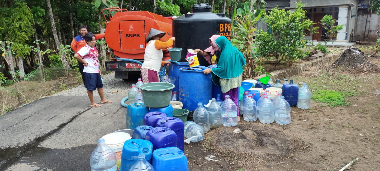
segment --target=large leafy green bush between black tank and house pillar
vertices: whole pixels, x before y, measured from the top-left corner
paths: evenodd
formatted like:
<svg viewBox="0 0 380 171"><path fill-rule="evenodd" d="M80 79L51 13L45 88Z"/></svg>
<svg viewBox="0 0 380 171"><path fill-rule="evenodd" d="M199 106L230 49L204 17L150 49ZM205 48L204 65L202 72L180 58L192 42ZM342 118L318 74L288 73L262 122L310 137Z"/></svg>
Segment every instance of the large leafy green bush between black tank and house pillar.
<svg viewBox="0 0 380 171"><path fill-rule="evenodd" d="M313 22L306 19L305 12L302 10L304 5L297 3L293 12L289 10L280 10L278 6L269 15L264 17L264 22L271 28L272 33L265 30L259 30L256 35L258 42L257 54L261 57L274 58L275 67L281 61L285 61L287 66L291 66L294 61L302 58L302 51L307 41L305 38L305 30L310 30ZM315 32L317 28L313 28Z"/></svg>

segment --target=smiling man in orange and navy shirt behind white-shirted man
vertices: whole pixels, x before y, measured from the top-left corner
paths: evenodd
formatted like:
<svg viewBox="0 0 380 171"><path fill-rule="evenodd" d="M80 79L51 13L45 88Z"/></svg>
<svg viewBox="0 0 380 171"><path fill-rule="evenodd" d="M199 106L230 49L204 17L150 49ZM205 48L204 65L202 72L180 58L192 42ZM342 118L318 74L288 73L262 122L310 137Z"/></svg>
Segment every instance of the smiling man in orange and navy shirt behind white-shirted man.
<svg viewBox="0 0 380 171"><path fill-rule="evenodd" d="M81 26L79 27L79 35L73 38L73 41L71 42L71 49L75 53L77 53L81 48L87 45L86 41L84 40L84 35L87 33L87 27L86 26ZM102 34L95 34L95 39L101 39L104 38L105 33ZM82 75L82 80L84 82L84 77L83 77L83 69L84 65L82 62L78 61L78 67L79 67L79 72ZM86 84L85 84L86 85Z"/></svg>

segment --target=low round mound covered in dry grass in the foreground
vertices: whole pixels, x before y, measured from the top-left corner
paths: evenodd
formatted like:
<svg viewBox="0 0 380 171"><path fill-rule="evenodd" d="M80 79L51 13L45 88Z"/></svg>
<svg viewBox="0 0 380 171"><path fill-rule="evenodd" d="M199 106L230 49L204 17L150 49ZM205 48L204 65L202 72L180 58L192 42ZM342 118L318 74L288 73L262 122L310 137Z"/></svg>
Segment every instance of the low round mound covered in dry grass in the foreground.
<svg viewBox="0 0 380 171"><path fill-rule="evenodd" d="M241 133L232 133L239 128ZM291 157L301 150L304 142L262 124L239 123L234 127L220 127L205 135L203 145L226 162L253 166L262 161Z"/></svg>

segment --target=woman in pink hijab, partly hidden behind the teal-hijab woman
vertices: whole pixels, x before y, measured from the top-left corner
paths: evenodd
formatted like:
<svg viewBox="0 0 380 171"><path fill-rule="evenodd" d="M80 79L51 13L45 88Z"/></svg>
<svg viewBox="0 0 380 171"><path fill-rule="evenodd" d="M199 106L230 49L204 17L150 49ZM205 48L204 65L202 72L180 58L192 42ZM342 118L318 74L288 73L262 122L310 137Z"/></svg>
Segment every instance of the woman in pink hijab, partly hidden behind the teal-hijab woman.
<svg viewBox="0 0 380 171"><path fill-rule="evenodd" d="M215 43L215 40L220 37L220 35L212 35L211 38L209 38L210 47L206 50L200 50L196 49L194 52L198 55L202 55L204 59L206 59L207 62L209 62L210 65L215 65L218 63L220 51L218 51L218 46Z"/></svg>

